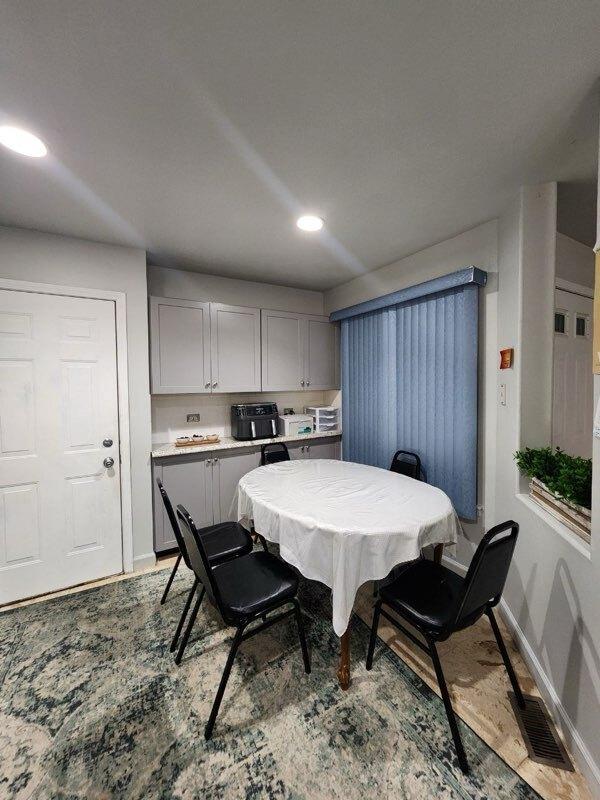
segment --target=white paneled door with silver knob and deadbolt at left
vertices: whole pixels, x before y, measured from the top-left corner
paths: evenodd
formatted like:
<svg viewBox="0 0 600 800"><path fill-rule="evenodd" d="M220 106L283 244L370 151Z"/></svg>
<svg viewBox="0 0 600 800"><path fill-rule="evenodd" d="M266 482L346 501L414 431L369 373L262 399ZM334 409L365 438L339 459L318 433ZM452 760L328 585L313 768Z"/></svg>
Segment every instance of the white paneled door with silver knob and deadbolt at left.
<svg viewBox="0 0 600 800"><path fill-rule="evenodd" d="M122 568L114 302L0 290L0 603Z"/></svg>

